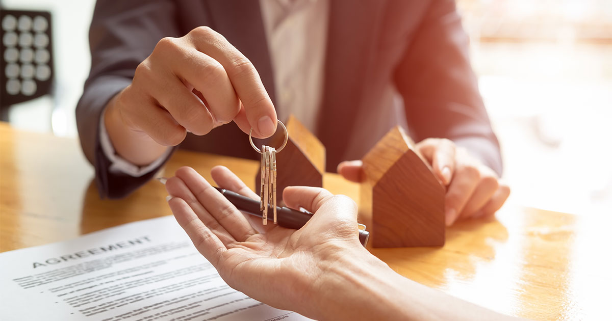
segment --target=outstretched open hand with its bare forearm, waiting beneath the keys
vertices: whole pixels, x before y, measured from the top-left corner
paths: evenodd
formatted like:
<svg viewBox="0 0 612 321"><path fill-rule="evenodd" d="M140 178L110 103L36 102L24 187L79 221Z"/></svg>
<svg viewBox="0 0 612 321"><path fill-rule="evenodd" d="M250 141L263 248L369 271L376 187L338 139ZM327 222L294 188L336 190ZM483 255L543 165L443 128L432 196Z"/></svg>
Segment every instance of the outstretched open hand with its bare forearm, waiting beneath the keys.
<svg viewBox="0 0 612 321"><path fill-rule="evenodd" d="M259 200L229 169L211 175L220 188ZM288 207L314 213L294 230L247 218L192 168L178 169L166 190L176 220L223 280L275 308L319 320L507 318L406 279L370 254L349 197L285 188Z"/></svg>

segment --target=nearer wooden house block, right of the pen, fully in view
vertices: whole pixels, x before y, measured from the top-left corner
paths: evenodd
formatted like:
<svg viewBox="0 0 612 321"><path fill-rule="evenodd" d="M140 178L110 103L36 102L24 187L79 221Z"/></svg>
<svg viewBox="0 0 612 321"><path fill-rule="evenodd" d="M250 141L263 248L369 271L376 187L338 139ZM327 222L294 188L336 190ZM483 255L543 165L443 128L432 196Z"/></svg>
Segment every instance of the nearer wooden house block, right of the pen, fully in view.
<svg viewBox="0 0 612 321"><path fill-rule="evenodd" d="M444 245L445 189L405 131L392 128L363 162L360 200L373 246Z"/></svg>

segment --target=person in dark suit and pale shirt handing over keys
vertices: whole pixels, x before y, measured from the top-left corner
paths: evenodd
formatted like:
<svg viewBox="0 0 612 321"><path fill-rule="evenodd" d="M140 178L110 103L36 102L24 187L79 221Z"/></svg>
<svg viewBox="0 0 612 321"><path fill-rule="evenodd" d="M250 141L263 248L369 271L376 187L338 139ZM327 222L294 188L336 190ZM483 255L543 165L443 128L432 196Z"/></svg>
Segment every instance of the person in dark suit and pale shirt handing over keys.
<svg viewBox="0 0 612 321"><path fill-rule="evenodd" d="M76 121L102 197L177 146L258 159L244 133L289 114L356 182L364 153L406 128L447 187L447 224L509 195L453 0L100 0L90 47Z"/></svg>

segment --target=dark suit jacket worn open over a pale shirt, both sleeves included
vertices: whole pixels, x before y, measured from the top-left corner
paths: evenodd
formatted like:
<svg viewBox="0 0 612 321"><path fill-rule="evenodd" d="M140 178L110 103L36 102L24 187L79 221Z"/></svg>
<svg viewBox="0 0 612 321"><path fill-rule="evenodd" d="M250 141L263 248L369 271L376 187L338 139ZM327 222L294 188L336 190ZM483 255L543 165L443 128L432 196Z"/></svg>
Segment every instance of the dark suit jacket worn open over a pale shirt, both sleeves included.
<svg viewBox="0 0 612 321"><path fill-rule="evenodd" d="M345 157L350 137L343 133L353 130L356 114L351 111L401 101L394 99L399 96L415 141L450 138L501 173L499 144L469 64L468 38L453 0L330 0L329 6L323 106L315 132L327 148L328 171L335 171ZM160 39L181 37L196 26L211 27L244 53L275 100L258 1L97 1L89 31L91 73L76 121L102 197L125 196L154 175L109 172L98 138L104 106L130 84L136 66ZM206 136L188 135L181 148L259 157L233 123Z"/></svg>

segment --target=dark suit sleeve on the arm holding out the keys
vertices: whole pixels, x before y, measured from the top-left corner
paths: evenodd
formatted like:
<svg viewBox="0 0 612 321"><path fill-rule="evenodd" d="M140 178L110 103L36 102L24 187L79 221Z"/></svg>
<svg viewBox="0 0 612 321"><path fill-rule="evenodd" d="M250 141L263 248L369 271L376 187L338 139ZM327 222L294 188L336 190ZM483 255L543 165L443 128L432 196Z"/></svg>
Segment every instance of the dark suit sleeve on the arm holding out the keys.
<svg viewBox="0 0 612 321"><path fill-rule="evenodd" d="M89 29L91 71L76 106L76 125L83 152L95 166L100 197L123 197L159 169L141 177L113 174L111 161L100 147L100 117L106 103L132 83L136 67L157 42L178 35L173 1L99 0L95 4Z"/></svg>

